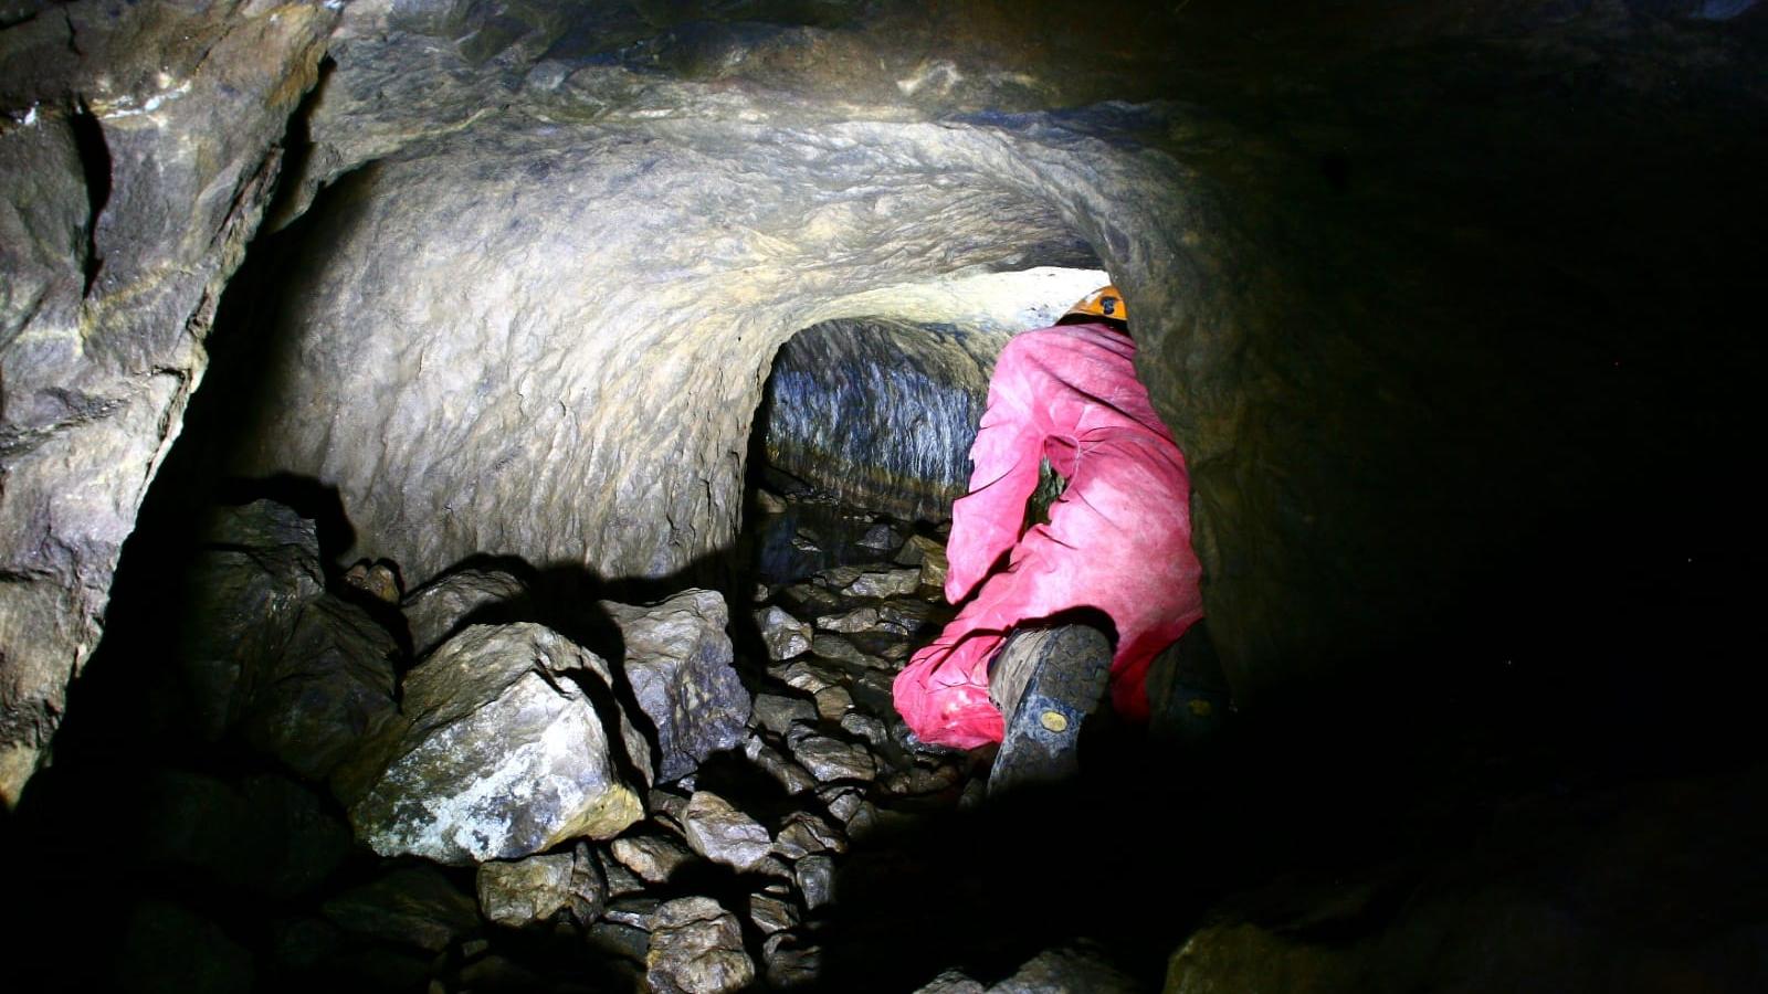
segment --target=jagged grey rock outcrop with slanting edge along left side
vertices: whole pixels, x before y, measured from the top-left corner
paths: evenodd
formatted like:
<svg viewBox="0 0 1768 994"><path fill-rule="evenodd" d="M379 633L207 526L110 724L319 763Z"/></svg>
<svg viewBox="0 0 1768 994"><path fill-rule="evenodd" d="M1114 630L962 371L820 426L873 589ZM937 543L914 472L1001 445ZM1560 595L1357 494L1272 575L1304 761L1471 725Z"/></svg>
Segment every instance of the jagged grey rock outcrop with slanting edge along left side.
<svg viewBox="0 0 1768 994"><path fill-rule="evenodd" d="M0 28L0 801L99 640L336 5L14 5Z"/></svg>

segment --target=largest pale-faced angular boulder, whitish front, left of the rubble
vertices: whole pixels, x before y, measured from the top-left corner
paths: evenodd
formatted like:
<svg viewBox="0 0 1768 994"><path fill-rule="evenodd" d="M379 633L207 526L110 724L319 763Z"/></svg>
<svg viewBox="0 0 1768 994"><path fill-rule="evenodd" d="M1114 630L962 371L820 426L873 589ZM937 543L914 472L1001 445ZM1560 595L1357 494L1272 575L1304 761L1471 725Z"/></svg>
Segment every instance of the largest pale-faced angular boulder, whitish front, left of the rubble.
<svg viewBox="0 0 1768 994"><path fill-rule="evenodd" d="M469 863L619 835L644 817L628 771L649 757L608 684L599 656L539 624L449 638L407 676L403 720L334 782L357 837Z"/></svg>

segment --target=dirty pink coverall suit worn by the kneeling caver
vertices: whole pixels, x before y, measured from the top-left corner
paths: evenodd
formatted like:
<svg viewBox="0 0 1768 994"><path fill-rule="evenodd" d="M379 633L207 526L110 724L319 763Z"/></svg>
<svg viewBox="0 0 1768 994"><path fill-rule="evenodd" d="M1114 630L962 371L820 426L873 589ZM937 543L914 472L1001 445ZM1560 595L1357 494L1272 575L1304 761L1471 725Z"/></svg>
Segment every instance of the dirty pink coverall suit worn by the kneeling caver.
<svg viewBox="0 0 1768 994"><path fill-rule="evenodd" d="M1185 456L1135 378L1135 343L1105 324L1027 331L1001 352L951 509L946 600L981 591L896 676L896 711L923 741L1001 741L988 663L1013 626L1096 608L1117 626L1112 704L1147 718L1153 658L1202 617ZM1020 536L1043 458L1068 479L1050 524ZM1002 554L1006 568L990 573Z"/></svg>

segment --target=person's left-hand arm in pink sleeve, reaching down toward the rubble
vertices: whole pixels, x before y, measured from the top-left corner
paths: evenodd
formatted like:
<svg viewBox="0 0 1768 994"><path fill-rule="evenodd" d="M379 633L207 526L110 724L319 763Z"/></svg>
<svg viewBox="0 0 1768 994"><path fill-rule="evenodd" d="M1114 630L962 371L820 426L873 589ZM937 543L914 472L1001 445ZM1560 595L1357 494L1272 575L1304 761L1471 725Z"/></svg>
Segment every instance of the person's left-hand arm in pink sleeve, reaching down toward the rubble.
<svg viewBox="0 0 1768 994"><path fill-rule="evenodd" d="M1038 488L1043 460L1043 428L1031 416L1036 409L1029 380L1020 375L1011 345L1001 354L988 380L988 410L971 447L971 493L951 506L951 539L946 543L946 600L962 601L1018 543L1025 522L1025 499Z"/></svg>

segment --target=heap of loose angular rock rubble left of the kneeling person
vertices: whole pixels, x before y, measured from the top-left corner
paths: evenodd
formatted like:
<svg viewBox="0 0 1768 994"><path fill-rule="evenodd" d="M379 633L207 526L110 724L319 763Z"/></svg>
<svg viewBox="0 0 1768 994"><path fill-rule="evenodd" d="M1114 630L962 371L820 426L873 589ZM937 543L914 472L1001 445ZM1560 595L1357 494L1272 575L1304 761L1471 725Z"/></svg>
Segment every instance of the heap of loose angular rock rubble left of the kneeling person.
<svg viewBox="0 0 1768 994"><path fill-rule="evenodd" d="M304 900L265 941L292 976L815 987L843 861L882 821L916 817L896 805L955 808L979 775L919 748L889 700L949 614L921 584L932 550L909 524L843 515L820 509L815 545L845 564L762 577L748 633L714 591L599 601L617 633L605 658L566 635L592 638L594 617L553 626L530 578L456 570L380 610L396 587L339 575L354 593L327 589L313 522L271 502L228 511L193 573L196 734L237 736L322 787L168 771L143 854L186 881ZM893 562L911 545L916 562ZM401 861L341 879L352 830L357 853ZM166 914L187 923L180 943L207 934L200 914Z"/></svg>

